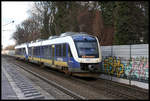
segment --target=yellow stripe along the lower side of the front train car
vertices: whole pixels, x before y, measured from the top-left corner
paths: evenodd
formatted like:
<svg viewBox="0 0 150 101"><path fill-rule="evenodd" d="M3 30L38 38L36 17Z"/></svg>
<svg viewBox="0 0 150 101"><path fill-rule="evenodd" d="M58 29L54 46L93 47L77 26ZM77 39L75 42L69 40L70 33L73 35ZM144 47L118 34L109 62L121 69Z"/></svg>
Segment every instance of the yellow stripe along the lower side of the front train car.
<svg viewBox="0 0 150 101"><path fill-rule="evenodd" d="M44 63L48 63L48 64L52 64L52 60L49 60L49 59L43 59L41 58L36 58L36 57L29 57L30 60L34 60L34 61L39 61L39 62L44 62ZM63 62L63 61L54 61L54 65L57 65L57 66L64 66L64 67L68 67L68 64L67 62Z"/></svg>

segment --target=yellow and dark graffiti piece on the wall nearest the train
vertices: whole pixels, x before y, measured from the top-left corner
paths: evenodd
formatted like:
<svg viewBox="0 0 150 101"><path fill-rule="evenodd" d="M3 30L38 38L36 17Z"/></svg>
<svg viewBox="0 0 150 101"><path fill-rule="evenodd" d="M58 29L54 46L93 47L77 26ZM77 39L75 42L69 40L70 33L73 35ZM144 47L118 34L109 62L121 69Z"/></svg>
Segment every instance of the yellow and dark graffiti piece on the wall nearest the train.
<svg viewBox="0 0 150 101"><path fill-rule="evenodd" d="M124 74L124 65L120 58L108 57L104 59L104 70L106 73L121 77Z"/></svg>

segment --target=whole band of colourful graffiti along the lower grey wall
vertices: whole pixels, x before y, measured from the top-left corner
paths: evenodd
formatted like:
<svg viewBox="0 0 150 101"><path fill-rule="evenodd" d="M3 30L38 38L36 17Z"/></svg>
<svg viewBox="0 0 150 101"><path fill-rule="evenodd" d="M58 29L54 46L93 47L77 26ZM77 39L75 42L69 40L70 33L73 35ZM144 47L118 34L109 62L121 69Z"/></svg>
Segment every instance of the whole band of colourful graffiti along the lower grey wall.
<svg viewBox="0 0 150 101"><path fill-rule="evenodd" d="M149 79L148 58L136 57L122 63L120 57L106 57L103 59L103 71L116 77L128 78L132 80Z"/></svg>

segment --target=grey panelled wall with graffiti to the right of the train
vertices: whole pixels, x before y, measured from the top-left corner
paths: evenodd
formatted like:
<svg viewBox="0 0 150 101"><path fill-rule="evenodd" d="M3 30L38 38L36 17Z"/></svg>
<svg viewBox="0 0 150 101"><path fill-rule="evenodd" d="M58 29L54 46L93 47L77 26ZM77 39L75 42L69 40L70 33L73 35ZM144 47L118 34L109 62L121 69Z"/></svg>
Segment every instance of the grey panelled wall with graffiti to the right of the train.
<svg viewBox="0 0 150 101"><path fill-rule="evenodd" d="M102 73L117 78L148 83L149 45L101 46Z"/></svg>

